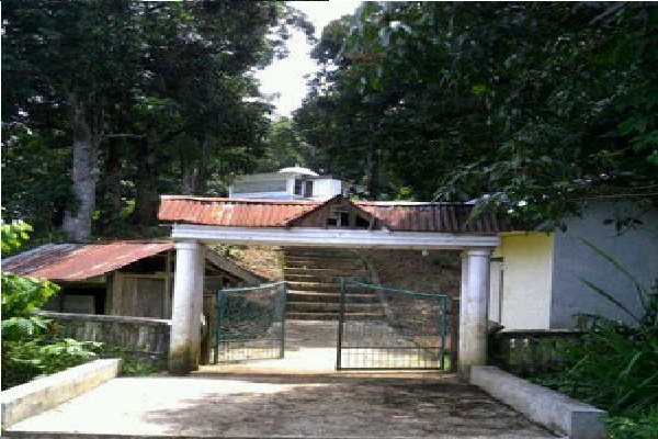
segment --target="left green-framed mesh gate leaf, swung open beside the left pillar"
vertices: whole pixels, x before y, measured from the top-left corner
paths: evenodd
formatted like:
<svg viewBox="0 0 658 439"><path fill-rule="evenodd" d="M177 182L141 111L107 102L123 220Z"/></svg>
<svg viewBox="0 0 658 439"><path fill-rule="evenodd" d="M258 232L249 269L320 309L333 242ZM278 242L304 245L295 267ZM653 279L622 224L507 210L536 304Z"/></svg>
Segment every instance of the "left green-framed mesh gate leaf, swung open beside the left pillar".
<svg viewBox="0 0 658 439"><path fill-rule="evenodd" d="M217 292L212 363L283 358L287 283Z"/></svg>

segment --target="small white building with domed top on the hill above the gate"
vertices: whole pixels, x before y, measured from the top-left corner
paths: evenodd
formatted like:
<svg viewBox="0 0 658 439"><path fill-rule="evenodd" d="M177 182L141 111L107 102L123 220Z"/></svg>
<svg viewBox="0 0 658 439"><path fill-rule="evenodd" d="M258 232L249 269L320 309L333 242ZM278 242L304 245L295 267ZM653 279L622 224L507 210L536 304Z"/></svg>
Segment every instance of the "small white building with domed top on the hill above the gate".
<svg viewBox="0 0 658 439"><path fill-rule="evenodd" d="M326 201L336 195L347 196L352 184L345 180L319 176L298 166L277 172L239 177L228 189L231 199L315 200Z"/></svg>

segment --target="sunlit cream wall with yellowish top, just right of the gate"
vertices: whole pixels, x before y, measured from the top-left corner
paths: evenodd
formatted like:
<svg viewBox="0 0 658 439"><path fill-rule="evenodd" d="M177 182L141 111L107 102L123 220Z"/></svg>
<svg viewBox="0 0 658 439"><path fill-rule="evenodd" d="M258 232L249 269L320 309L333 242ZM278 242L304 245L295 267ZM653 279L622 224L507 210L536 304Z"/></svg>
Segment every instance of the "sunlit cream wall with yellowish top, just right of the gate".
<svg viewBox="0 0 658 439"><path fill-rule="evenodd" d="M551 317L553 236L536 232L501 234L494 257L503 258L500 304L490 297L489 312L500 313L506 329L546 329ZM494 271L491 275L498 275ZM498 309L492 309L498 306Z"/></svg>

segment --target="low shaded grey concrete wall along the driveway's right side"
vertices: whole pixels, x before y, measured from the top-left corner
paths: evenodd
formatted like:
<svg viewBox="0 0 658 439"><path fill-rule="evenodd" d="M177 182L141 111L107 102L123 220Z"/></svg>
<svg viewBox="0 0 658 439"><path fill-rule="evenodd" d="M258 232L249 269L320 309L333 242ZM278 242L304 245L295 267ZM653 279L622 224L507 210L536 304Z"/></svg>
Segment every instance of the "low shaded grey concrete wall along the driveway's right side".
<svg viewBox="0 0 658 439"><path fill-rule="evenodd" d="M491 365L474 365L470 383L569 439L603 439L608 413Z"/></svg>

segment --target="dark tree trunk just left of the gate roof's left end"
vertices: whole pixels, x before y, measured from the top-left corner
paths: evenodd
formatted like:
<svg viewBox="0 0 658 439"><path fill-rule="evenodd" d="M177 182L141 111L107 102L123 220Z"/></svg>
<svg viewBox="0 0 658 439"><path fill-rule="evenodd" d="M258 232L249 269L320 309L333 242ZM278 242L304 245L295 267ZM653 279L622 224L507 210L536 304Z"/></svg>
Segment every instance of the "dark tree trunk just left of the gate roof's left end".
<svg viewBox="0 0 658 439"><path fill-rule="evenodd" d="M137 181L135 193L135 224L150 227L158 224L158 185L156 134L150 133L138 143L137 148Z"/></svg>

